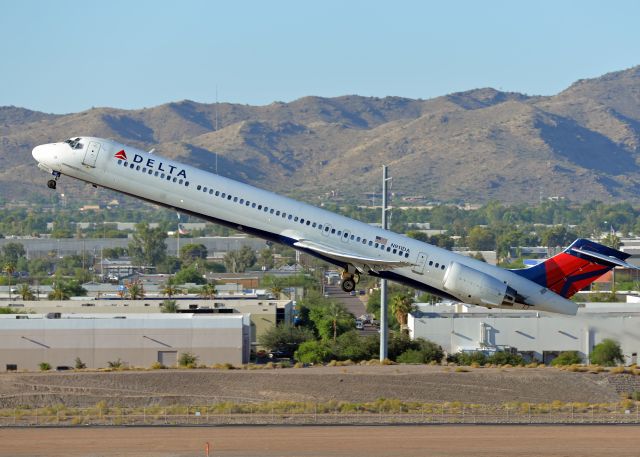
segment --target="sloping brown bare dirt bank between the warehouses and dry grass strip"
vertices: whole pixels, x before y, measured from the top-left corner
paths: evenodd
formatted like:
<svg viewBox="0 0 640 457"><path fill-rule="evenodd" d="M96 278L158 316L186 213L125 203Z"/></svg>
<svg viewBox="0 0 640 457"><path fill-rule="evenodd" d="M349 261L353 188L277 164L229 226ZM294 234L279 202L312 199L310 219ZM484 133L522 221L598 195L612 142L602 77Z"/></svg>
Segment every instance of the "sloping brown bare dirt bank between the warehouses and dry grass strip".
<svg viewBox="0 0 640 457"><path fill-rule="evenodd" d="M553 400L605 403L620 399L611 378L548 367L455 372L450 367L425 365L0 373L0 408L60 403L88 407L101 400L121 406L208 404L224 400L367 402L378 398L433 403Z"/></svg>

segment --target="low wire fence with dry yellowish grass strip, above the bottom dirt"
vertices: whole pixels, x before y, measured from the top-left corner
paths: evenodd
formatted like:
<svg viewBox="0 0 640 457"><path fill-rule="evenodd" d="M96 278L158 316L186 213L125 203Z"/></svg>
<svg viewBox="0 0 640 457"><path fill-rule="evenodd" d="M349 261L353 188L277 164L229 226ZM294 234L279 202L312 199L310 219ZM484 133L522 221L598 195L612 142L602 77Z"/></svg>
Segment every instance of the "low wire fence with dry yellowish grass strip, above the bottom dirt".
<svg viewBox="0 0 640 457"><path fill-rule="evenodd" d="M640 424L640 403L462 405L389 403L218 404L0 410L0 426Z"/></svg>

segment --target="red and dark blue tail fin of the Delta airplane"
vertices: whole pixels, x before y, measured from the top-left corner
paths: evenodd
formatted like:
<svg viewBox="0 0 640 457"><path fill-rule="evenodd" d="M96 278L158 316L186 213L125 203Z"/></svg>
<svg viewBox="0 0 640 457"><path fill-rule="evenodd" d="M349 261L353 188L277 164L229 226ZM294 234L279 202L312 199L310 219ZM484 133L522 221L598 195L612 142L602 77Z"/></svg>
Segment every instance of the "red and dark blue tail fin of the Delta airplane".
<svg viewBox="0 0 640 457"><path fill-rule="evenodd" d="M625 252L578 238L567 249L543 263L513 272L570 298L613 267L638 269L625 262L629 256Z"/></svg>

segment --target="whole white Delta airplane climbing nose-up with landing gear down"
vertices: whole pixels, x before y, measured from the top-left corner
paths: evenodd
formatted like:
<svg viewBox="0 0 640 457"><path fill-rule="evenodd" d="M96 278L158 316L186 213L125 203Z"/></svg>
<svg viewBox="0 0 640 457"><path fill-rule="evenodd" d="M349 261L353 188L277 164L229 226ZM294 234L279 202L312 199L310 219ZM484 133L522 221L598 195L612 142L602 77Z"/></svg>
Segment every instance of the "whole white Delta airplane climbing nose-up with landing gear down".
<svg viewBox="0 0 640 457"><path fill-rule="evenodd" d="M96 137L36 146L38 167L282 243L341 268L351 292L361 274L487 308L575 315L569 300L629 254L577 239L531 268L507 270L321 208Z"/></svg>

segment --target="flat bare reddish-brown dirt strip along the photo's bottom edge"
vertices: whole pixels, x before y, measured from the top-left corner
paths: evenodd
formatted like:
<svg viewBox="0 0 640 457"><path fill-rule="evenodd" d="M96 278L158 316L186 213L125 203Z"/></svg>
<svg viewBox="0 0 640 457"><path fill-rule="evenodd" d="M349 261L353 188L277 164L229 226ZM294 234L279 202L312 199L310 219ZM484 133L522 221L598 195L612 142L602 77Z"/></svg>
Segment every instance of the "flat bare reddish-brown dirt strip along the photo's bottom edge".
<svg viewBox="0 0 640 457"><path fill-rule="evenodd" d="M11 457L637 457L640 426L143 427L0 430Z"/></svg>

